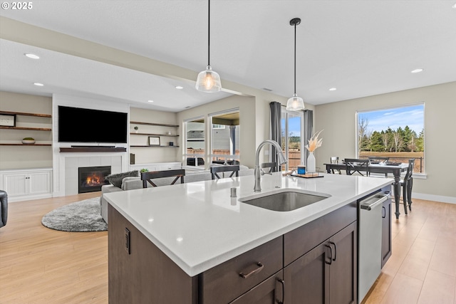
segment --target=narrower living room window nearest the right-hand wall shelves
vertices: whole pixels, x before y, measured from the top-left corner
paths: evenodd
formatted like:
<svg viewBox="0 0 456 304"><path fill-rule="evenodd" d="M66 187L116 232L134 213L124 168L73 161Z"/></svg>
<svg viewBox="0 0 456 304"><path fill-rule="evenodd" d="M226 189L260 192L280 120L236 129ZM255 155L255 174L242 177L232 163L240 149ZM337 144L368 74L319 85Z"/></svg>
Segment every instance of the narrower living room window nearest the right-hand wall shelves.
<svg viewBox="0 0 456 304"><path fill-rule="evenodd" d="M185 164L204 169L204 118L185 122Z"/></svg>

